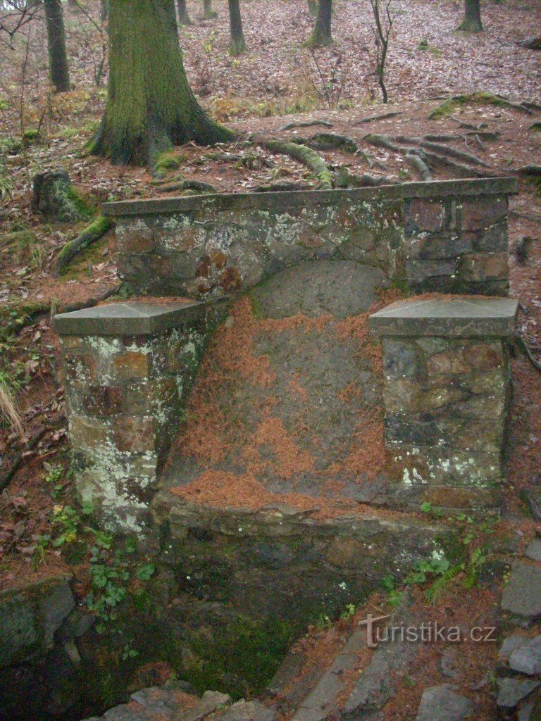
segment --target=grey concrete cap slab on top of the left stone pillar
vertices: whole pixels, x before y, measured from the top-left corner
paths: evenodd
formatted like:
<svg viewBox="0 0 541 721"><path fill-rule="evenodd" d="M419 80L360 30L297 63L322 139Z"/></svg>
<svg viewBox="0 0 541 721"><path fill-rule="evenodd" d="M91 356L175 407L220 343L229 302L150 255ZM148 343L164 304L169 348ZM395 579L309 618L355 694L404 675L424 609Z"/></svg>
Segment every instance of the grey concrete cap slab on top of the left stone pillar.
<svg viewBox="0 0 541 721"><path fill-rule="evenodd" d="M128 302L84 308L53 318L59 335L153 335L205 317L208 303Z"/></svg>

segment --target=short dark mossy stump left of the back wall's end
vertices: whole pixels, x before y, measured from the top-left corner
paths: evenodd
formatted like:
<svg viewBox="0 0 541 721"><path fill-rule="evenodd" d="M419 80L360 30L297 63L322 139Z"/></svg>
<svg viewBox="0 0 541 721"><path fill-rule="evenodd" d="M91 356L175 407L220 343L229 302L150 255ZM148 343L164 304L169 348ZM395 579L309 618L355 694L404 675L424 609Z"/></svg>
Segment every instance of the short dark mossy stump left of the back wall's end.
<svg viewBox="0 0 541 721"><path fill-rule="evenodd" d="M65 170L47 170L34 177L32 211L49 221L76 223L89 217L89 211L77 196Z"/></svg>

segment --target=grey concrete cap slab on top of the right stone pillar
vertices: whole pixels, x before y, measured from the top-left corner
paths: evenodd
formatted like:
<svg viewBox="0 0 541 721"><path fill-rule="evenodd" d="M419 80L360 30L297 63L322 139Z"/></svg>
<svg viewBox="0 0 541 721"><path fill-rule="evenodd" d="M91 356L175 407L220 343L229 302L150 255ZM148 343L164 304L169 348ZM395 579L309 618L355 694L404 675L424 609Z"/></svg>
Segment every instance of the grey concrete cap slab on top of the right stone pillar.
<svg viewBox="0 0 541 721"><path fill-rule="evenodd" d="M371 315L369 329L390 336L511 337L518 307L513 298L408 298Z"/></svg>

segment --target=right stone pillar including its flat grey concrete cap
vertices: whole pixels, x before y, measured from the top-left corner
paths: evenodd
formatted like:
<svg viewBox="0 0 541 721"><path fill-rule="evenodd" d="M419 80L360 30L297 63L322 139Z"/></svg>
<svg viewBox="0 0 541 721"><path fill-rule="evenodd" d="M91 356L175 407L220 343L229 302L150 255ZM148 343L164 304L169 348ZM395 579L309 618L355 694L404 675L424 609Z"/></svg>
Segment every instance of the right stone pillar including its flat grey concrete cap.
<svg viewBox="0 0 541 721"><path fill-rule="evenodd" d="M392 505L496 508L510 395L508 298L410 298L369 319L382 337Z"/></svg>

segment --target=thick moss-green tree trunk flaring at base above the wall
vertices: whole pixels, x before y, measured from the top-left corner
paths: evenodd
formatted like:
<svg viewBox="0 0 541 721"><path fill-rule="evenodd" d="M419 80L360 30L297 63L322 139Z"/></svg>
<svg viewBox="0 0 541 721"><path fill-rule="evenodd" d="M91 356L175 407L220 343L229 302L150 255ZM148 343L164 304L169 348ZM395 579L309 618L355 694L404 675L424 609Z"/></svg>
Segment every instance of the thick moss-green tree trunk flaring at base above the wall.
<svg viewBox="0 0 541 721"><path fill-rule="evenodd" d="M227 142L201 110L178 45L174 0L110 0L107 106L90 152L146 165L172 144Z"/></svg>

